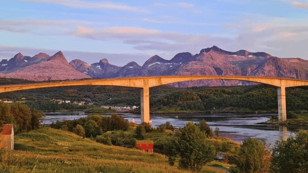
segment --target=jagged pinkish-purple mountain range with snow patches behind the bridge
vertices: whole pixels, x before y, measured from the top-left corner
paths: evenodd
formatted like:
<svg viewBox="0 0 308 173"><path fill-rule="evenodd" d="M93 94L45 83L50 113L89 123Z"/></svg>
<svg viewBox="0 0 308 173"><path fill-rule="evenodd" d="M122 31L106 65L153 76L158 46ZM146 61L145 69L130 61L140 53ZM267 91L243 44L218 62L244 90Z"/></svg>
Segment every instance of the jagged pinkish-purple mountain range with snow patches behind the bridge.
<svg viewBox="0 0 308 173"><path fill-rule="evenodd" d="M125 58L125 57L123 57ZM201 49L200 53L178 53L171 60L158 55L142 66L129 62L123 67L109 64L107 59L88 64L81 60L67 62L61 51L53 56L39 53L34 57L16 54L0 62L0 77L33 81L72 80L83 78L116 78L136 76L225 75L262 76L308 79L308 61L301 58L279 58L265 52L239 50L229 52L217 46ZM172 84L176 87L248 85L245 81L202 80Z"/></svg>

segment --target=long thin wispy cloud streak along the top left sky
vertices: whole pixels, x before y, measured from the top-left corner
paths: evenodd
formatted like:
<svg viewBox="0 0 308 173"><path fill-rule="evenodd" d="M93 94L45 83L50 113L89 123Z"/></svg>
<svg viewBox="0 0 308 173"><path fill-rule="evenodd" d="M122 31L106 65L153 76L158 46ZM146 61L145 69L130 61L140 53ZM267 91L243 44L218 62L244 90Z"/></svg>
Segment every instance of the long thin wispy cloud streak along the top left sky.
<svg viewBox="0 0 308 173"><path fill-rule="evenodd" d="M133 12L149 13L149 11L145 9L128 6L124 4L116 4L112 2L100 2L100 1L90 2L82 0L17 0L17 1L49 3L49 4L56 4L79 9L113 9L113 10L126 10Z"/></svg>

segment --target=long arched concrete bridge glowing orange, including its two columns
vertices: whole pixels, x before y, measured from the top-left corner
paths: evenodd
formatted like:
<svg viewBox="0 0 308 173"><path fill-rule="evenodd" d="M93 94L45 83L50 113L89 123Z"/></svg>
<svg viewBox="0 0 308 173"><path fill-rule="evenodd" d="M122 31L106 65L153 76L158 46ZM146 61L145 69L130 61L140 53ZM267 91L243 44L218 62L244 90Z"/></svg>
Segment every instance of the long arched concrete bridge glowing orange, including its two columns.
<svg viewBox="0 0 308 173"><path fill-rule="evenodd" d="M282 79L272 77L249 77L249 76L156 76L156 77L130 77L112 79L90 79L79 81L58 81L41 82L31 84L2 85L0 92L10 92L34 88L59 87L59 86L80 86L80 85L113 85L141 88L141 122L150 121L149 88L159 85L170 84L182 81L194 80L238 80L257 82L278 87L278 119L286 120L286 87L305 86L308 81L296 79Z"/></svg>

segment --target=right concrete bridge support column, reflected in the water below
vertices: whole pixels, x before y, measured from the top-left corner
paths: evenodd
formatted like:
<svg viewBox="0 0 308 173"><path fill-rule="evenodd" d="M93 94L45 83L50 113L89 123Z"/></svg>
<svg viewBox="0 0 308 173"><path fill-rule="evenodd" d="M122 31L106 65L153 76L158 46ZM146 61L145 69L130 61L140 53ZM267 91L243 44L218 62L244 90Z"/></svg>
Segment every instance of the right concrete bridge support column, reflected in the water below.
<svg viewBox="0 0 308 173"><path fill-rule="evenodd" d="M278 87L278 120L287 120L286 114L286 87L282 85Z"/></svg>

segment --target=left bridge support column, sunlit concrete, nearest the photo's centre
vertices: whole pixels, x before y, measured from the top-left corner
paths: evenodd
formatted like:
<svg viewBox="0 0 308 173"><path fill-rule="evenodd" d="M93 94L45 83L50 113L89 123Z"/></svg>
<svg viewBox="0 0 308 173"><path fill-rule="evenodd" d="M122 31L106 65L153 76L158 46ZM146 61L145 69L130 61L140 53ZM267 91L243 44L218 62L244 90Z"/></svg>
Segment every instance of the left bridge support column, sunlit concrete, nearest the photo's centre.
<svg viewBox="0 0 308 173"><path fill-rule="evenodd" d="M150 122L150 92L149 88L141 88L140 91L141 103L141 123Z"/></svg>

